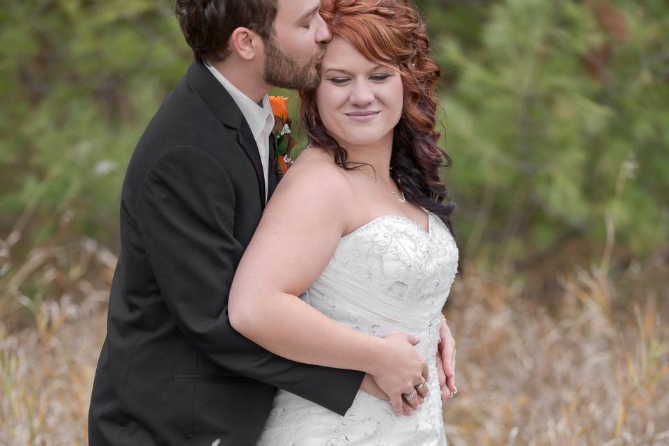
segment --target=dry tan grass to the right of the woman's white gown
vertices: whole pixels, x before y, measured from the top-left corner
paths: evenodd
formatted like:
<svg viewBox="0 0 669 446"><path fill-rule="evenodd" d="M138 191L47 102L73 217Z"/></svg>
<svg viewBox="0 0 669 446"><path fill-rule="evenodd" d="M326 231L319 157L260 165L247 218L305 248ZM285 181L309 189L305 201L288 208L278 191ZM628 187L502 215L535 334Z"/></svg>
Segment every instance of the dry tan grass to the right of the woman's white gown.
<svg viewBox="0 0 669 446"><path fill-rule="evenodd" d="M459 358L450 445L669 445L669 312L652 292L576 270L549 314L519 285L482 277L459 280L447 310Z"/></svg>

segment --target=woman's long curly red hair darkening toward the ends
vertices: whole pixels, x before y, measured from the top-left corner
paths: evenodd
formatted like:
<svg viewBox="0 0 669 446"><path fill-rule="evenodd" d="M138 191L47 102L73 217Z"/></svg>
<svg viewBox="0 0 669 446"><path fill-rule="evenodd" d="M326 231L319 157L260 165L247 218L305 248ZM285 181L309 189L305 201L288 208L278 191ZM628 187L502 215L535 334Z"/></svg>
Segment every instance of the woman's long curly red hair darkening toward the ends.
<svg viewBox="0 0 669 446"><path fill-rule="evenodd" d="M392 177L408 201L439 215L454 233L450 215L455 203L439 178L439 168L452 162L439 148L435 130L435 87L441 70L429 54L426 24L415 6L403 0L323 0L321 16L333 38L347 40L370 61L399 70L404 103L394 129ZM348 161L346 149L323 127L316 89L301 91L300 98L309 144L330 151L343 169L359 166Z"/></svg>

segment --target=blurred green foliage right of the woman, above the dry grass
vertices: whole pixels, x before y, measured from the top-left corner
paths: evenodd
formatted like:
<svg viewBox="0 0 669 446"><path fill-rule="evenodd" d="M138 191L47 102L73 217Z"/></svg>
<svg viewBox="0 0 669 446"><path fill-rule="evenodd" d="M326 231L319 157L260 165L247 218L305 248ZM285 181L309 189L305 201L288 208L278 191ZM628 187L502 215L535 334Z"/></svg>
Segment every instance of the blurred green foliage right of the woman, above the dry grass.
<svg viewBox="0 0 669 446"><path fill-rule="evenodd" d="M478 10L435 42L468 252L531 266L607 238L627 259L666 248L669 3L489 3L433 15Z"/></svg>

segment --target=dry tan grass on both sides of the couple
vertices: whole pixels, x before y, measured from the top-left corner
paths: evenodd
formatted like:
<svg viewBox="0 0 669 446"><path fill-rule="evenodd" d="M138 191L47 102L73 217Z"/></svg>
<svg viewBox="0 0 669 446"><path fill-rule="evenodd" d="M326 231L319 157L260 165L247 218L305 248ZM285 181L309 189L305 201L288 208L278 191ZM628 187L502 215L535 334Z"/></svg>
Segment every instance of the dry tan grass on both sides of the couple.
<svg viewBox="0 0 669 446"><path fill-rule="evenodd" d="M549 314L521 282L484 277L459 277L446 312L459 360L450 445L669 445L669 312L656 305L669 296L576 270ZM0 333L0 445L86 443L106 292L45 300L31 326Z"/></svg>

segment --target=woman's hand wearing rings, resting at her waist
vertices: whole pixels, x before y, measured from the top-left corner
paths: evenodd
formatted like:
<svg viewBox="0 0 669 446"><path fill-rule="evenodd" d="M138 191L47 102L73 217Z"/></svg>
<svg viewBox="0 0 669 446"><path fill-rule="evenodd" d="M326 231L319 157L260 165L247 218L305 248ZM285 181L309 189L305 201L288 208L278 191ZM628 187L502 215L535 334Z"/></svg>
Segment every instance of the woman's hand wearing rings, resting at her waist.
<svg viewBox="0 0 669 446"><path fill-rule="evenodd" d="M384 347L379 352L375 370L371 375L376 384L390 397L390 403L395 415L402 415L403 402L411 406L410 413L422 403L422 398L428 393L427 382L430 376L427 363L413 346L418 344L418 337L403 332L390 334L382 338ZM415 386L425 384L417 390L413 399L407 400L403 393L411 393Z"/></svg>

